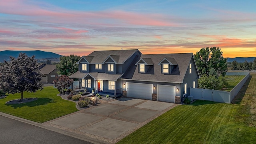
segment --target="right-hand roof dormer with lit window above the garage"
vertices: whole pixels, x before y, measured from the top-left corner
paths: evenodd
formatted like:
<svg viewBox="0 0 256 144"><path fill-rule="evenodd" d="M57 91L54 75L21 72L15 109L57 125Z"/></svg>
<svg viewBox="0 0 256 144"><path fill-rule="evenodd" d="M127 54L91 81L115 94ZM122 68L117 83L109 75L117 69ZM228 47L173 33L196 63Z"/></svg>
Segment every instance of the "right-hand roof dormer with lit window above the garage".
<svg viewBox="0 0 256 144"><path fill-rule="evenodd" d="M157 65L161 65L162 74L171 74L174 66L178 66L178 63L174 58L164 58Z"/></svg>

